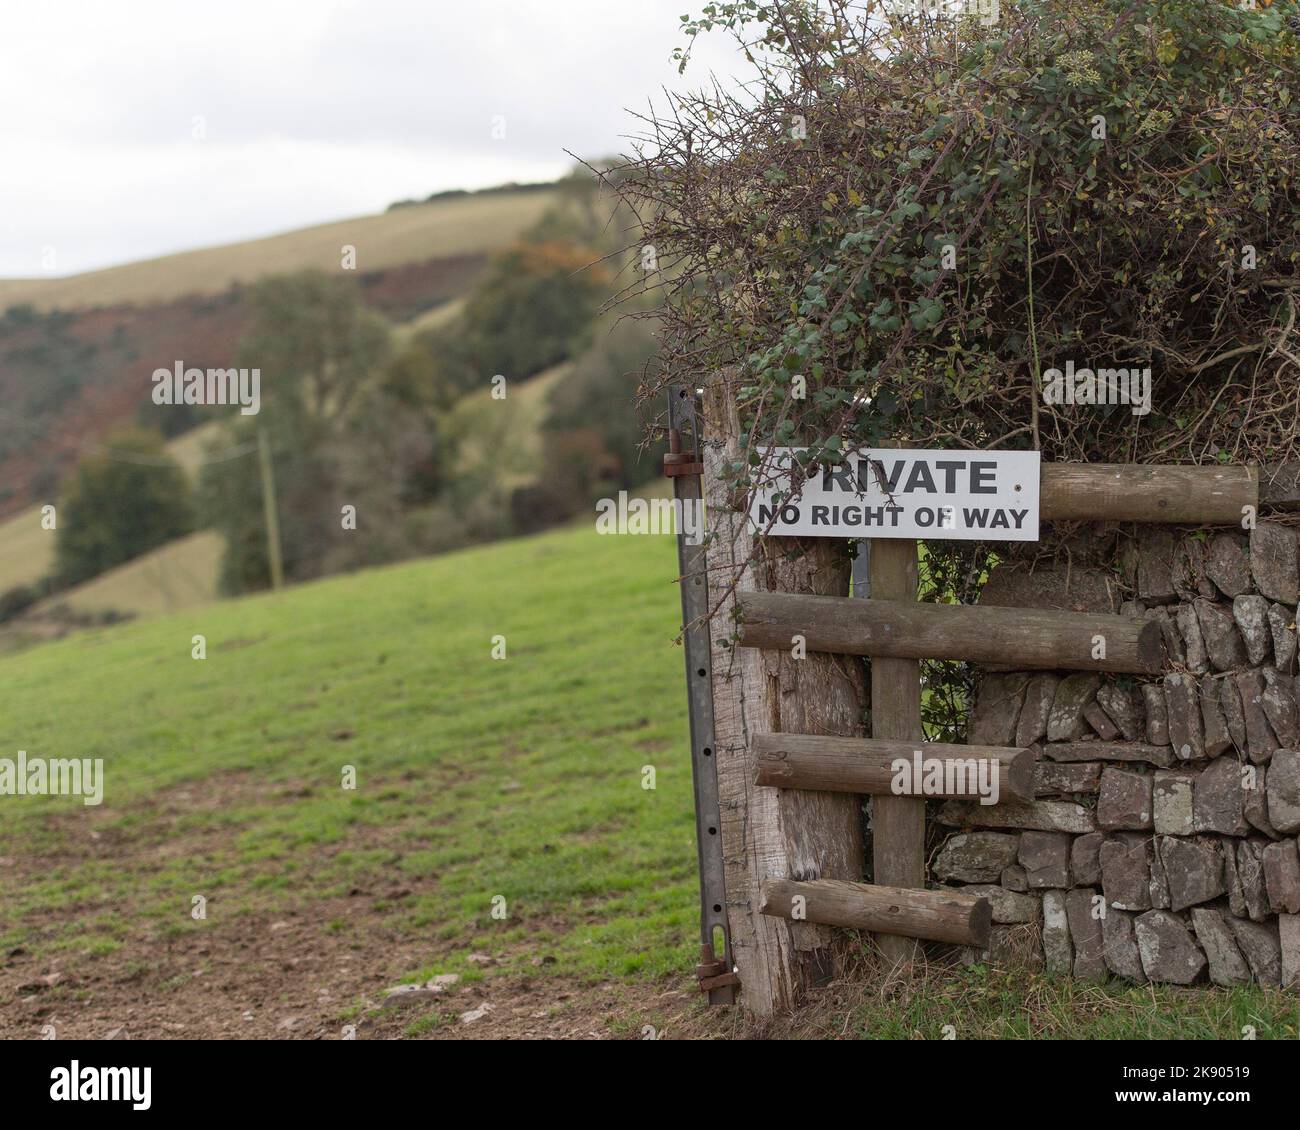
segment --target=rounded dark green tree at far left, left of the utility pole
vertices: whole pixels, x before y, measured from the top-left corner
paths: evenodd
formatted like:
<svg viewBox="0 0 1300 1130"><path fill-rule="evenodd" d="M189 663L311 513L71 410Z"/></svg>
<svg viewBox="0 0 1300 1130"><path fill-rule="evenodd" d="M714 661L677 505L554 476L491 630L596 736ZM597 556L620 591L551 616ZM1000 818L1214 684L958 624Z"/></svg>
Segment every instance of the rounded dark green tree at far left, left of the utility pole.
<svg viewBox="0 0 1300 1130"><path fill-rule="evenodd" d="M192 527L188 481L162 437L124 432L81 463L58 503L58 583L99 576Z"/></svg>

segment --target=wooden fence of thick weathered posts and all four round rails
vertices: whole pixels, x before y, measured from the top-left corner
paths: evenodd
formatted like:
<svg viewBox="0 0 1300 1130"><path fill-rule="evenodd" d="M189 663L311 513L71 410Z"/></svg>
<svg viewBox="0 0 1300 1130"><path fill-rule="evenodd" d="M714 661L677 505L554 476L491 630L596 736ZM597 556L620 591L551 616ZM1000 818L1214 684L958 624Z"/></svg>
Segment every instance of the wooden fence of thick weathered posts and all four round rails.
<svg viewBox="0 0 1300 1130"><path fill-rule="evenodd" d="M918 603L916 542L906 538L872 540L871 596L850 598L842 546L805 542L790 557L781 538L755 537L728 482L745 454L728 381L703 390L702 414L690 472L702 475L710 536L682 583L706 580L715 594L710 662L688 659L688 675L707 670L712 690L718 808L699 818L720 830L727 948L708 971L738 977L746 1008L768 1016L835 973L833 927L872 931L892 962L910 961L919 939L988 940L987 899L924 889L926 800L898 795L890 766L920 752L956 780L957 762L985 759L1000 774L1000 802L1015 804L1032 796L1035 753L924 744L920 661L1157 675L1165 653L1154 619ZM1261 505L1300 503L1297 482L1294 467L1265 471L1261 486L1253 467L1044 464L1040 516L1243 527ZM792 654L798 637L805 658ZM870 736L852 657L871 659ZM862 795L874 806L872 884L861 882Z"/></svg>

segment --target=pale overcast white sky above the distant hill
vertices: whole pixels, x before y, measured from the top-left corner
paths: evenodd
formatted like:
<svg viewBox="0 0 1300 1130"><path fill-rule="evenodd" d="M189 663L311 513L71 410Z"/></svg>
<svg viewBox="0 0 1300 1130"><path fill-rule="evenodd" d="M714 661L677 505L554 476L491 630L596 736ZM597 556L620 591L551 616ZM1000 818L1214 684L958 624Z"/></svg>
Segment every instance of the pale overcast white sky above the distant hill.
<svg viewBox="0 0 1300 1130"><path fill-rule="evenodd" d="M564 148L625 150L625 108L663 86L740 72L715 35L677 75L701 3L10 0L0 277L49 273L46 248L72 274L550 179Z"/></svg>

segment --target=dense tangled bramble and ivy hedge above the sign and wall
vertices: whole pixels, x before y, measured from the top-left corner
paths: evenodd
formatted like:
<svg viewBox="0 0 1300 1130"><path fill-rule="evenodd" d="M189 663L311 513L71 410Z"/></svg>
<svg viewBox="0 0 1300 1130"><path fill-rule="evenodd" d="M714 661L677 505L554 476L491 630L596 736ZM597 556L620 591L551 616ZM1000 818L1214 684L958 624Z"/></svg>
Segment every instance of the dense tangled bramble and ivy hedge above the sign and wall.
<svg viewBox="0 0 1300 1130"><path fill-rule="evenodd" d="M1294 458L1296 0L1022 0L988 26L868 7L686 21L758 70L684 99L624 181L684 283L675 372L734 368L753 445L810 460ZM1066 359L1149 364L1153 414L1043 403Z"/></svg>

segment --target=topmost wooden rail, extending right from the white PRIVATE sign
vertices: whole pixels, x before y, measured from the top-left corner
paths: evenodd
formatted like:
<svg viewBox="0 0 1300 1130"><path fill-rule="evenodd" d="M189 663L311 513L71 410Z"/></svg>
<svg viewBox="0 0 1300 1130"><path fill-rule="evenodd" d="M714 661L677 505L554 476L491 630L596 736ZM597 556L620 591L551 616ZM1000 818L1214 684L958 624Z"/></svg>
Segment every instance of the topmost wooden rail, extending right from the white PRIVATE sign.
<svg viewBox="0 0 1300 1130"><path fill-rule="evenodd" d="M1039 482L1043 521L1240 525L1258 505L1257 467L1044 463Z"/></svg>

